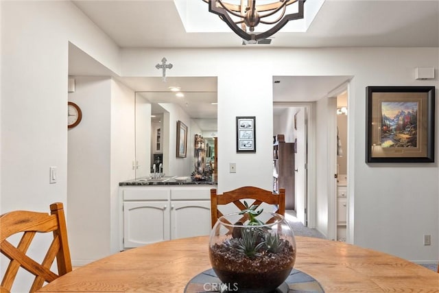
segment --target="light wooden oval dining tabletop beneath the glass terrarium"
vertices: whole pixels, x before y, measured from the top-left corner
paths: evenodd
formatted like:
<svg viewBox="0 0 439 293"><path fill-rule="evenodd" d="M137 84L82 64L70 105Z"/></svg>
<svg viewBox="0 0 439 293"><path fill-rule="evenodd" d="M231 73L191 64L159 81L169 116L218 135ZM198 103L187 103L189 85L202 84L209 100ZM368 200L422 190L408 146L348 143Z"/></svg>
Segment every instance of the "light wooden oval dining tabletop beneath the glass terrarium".
<svg viewBox="0 0 439 293"><path fill-rule="evenodd" d="M359 246L296 236L295 269L324 292L439 292L439 274ZM149 244L110 255L59 277L38 292L185 292L211 268L209 237Z"/></svg>

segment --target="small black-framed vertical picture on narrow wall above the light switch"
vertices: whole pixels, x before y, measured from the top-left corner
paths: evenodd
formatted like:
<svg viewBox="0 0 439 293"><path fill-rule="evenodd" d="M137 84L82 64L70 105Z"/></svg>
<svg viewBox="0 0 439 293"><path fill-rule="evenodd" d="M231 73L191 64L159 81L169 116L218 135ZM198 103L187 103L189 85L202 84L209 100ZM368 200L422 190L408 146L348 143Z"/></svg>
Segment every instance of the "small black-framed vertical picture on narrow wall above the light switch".
<svg viewBox="0 0 439 293"><path fill-rule="evenodd" d="M256 117L236 117L236 151L256 152Z"/></svg>

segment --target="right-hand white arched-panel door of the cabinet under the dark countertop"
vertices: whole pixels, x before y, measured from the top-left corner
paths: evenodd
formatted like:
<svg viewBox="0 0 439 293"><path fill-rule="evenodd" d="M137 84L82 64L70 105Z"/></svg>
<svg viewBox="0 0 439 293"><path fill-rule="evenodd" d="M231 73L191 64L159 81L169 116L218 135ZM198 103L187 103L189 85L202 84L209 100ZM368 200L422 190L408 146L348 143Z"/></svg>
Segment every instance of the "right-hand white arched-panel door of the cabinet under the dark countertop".
<svg viewBox="0 0 439 293"><path fill-rule="evenodd" d="M209 200L173 201L171 239L209 235L211 202Z"/></svg>

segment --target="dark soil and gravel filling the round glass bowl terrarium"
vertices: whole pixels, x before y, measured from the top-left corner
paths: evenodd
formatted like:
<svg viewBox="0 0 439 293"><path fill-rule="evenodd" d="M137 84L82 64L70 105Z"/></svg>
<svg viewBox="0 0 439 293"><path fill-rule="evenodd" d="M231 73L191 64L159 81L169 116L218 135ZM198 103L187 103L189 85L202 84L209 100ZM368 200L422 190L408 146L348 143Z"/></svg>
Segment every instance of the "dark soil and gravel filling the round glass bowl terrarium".
<svg viewBox="0 0 439 293"><path fill-rule="evenodd" d="M230 241L231 240L231 241ZM209 255L213 270L223 283L235 284L239 291L270 292L285 281L296 259L296 251L285 239L277 253L261 250L248 257L233 249L233 240L211 246Z"/></svg>

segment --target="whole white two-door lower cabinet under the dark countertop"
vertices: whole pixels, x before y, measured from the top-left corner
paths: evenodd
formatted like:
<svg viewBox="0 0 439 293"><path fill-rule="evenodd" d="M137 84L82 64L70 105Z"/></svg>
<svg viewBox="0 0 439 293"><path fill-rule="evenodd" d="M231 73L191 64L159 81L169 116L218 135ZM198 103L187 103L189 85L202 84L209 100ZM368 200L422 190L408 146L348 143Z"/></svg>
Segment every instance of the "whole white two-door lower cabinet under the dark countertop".
<svg viewBox="0 0 439 293"><path fill-rule="evenodd" d="M121 250L211 231L209 185L119 188Z"/></svg>

